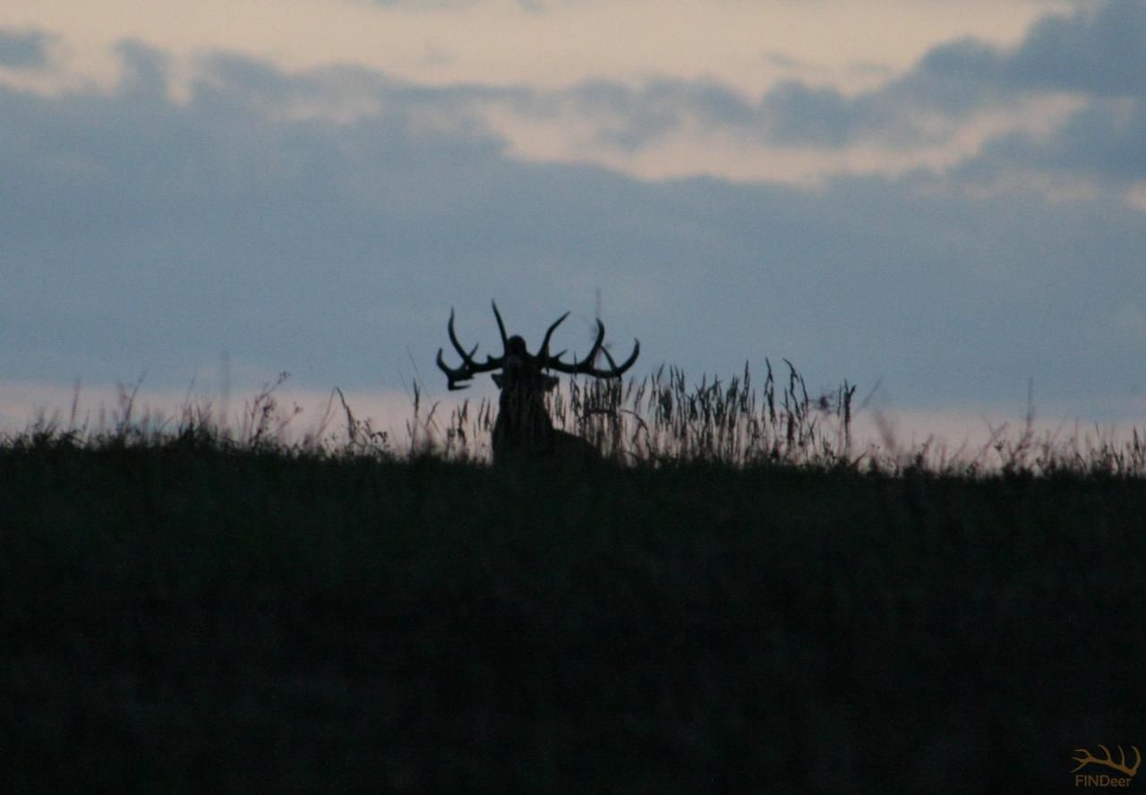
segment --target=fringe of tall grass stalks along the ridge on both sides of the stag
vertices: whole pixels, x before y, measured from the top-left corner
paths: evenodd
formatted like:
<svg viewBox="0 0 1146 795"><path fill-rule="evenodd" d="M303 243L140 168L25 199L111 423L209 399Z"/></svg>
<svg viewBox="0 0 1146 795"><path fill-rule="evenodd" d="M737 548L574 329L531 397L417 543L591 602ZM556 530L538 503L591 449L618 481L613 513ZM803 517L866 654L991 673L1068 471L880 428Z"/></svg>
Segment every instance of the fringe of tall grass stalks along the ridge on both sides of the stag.
<svg viewBox="0 0 1146 795"><path fill-rule="evenodd" d="M845 380L834 389L813 394L795 365L783 362L777 370L764 360L762 383L753 378L747 363L728 379L706 375L691 381L675 367L661 367L641 379L571 378L547 395L547 406L557 428L588 439L604 457L628 466L706 463L971 478L1146 475L1146 436L1138 428L1131 430L1129 439L1117 439L1098 426L1041 434L1034 425L1033 400L1019 428L991 427L988 440L971 449L965 444L952 450L934 438L901 448L878 412L872 418L882 444L858 440L856 386ZM496 396L465 400L446 414L438 402L426 410L424 388L415 383L403 443L392 430L356 414L336 387L317 424L299 435L292 434L292 424L301 408L284 407L277 394L288 378L280 373L245 401L237 424L211 402L188 400L174 418L141 412L136 409L139 383L119 386L112 411L101 408L94 423L88 417L80 422L77 386L66 423L58 414L41 411L23 433L0 436L0 444L104 447L178 441L292 455L433 456L474 464L492 459ZM340 412L335 409L336 399ZM339 415L342 422L335 422Z"/></svg>

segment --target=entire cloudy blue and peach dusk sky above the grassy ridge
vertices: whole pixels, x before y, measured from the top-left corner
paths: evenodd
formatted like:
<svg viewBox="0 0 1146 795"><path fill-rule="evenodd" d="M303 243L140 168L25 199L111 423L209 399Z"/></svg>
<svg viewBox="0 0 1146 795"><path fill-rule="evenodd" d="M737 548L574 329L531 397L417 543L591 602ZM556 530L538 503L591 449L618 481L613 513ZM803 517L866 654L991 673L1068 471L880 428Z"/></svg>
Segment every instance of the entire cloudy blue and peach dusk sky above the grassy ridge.
<svg viewBox="0 0 1146 795"><path fill-rule="evenodd" d="M1141 423L1146 3L6 0L0 241L0 427L408 408L490 299L638 377Z"/></svg>

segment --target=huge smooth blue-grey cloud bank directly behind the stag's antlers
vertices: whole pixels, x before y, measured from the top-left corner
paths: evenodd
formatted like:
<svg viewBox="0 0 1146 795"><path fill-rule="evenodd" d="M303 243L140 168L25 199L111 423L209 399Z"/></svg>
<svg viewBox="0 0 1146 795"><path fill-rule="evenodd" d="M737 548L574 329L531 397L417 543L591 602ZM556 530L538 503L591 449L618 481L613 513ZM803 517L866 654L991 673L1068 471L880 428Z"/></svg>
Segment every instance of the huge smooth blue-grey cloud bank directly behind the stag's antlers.
<svg viewBox="0 0 1146 795"><path fill-rule="evenodd" d="M489 298L527 336L572 308L557 344L576 351L601 289L611 333L642 340L641 371L788 356L814 384L882 376L915 404L1021 407L1027 377L1078 407L1146 386L1128 364L1146 339L1107 316L1146 313L1141 214L1108 198L968 198L919 173L815 191L641 181L515 159L474 109L542 96L524 89L217 54L176 102L163 52L120 54L110 93L0 87L6 379L148 370L174 388L228 351L304 387L433 388L452 305L482 349ZM625 111L610 90L563 101ZM701 84L638 94L751 111Z"/></svg>

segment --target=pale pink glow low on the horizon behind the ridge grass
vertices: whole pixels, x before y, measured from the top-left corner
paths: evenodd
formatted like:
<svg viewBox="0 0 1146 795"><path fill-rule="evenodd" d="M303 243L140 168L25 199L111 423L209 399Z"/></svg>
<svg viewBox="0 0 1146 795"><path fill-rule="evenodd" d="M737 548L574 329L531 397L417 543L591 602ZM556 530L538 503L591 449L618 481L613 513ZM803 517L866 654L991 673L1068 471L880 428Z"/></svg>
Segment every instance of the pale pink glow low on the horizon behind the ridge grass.
<svg viewBox="0 0 1146 795"><path fill-rule="evenodd" d="M15 436L29 431L38 419L47 420L54 427L66 431L85 428L89 433L110 432L123 415L123 395L131 386L100 385L80 386L78 399L74 387L45 387L34 384L0 384L0 435ZM228 428L234 438L240 438L244 426L250 426L251 406L258 391L235 394L223 400L219 395L175 394L149 392L141 388L134 399L133 423L147 428L171 431L179 424L186 407L205 412L212 423ZM338 396L331 392L295 389L284 385L275 389L277 417L289 419L281 434L281 441L300 442L308 438L328 443L346 440L346 415ZM387 434L391 449L403 452L409 449L409 424L414 418L413 398L403 393L351 392L345 394L347 406L355 419L370 420L375 431ZM431 433L441 441L441 428L450 414L469 399L471 417L477 403L482 399L496 400L492 391L474 389L469 395L423 395L419 416L425 420L431 412L437 420L438 433ZM74 416L73 416L74 404ZM296 414L296 409L300 409ZM220 423L220 415L226 422ZM832 418L822 423L825 430L833 430ZM1058 450L1073 450L1086 455L1089 450L1102 446L1118 449L1132 442L1135 434L1146 439L1146 415L1139 419L1118 423L1088 423L1080 418L1043 417L1036 410L1030 425L1031 441L1036 447L1044 443ZM1006 451L1014 447L1027 431L1027 418L1022 411L984 409L897 410L858 409L853 422L853 456L864 450L876 449L882 456L906 461L918 452L927 459L942 464L952 458L964 462L979 461L986 469L999 466ZM425 441L424 425L419 428ZM473 440L478 455L488 452L488 439ZM831 431L829 432L831 435ZM999 449L996 450L996 447Z"/></svg>

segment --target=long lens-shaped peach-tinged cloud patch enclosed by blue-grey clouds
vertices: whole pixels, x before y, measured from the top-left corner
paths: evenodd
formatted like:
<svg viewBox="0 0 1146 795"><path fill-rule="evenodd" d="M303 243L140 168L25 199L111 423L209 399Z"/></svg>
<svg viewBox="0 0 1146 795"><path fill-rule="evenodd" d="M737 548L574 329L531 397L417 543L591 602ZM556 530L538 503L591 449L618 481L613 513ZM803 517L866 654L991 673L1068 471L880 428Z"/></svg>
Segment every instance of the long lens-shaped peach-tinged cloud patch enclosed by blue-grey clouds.
<svg viewBox="0 0 1146 795"><path fill-rule="evenodd" d="M926 88L901 81L857 97L788 82L753 100L711 81L666 79L452 94L455 109L464 107L525 159L597 163L645 179L800 184L840 173L944 171L1003 135L1045 139L1085 104L1052 94L955 110L921 95Z"/></svg>

